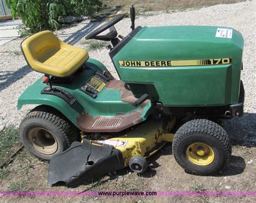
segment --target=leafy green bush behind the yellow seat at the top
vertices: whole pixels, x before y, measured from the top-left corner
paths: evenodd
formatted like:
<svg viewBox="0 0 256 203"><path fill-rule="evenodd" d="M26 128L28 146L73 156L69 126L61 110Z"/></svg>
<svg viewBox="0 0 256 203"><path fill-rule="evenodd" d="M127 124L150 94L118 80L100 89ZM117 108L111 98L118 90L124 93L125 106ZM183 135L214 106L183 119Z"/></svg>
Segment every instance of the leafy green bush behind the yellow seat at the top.
<svg viewBox="0 0 256 203"><path fill-rule="evenodd" d="M5 0L12 17L20 17L28 29L35 33L57 30L65 16L91 15L102 6L100 0Z"/></svg>

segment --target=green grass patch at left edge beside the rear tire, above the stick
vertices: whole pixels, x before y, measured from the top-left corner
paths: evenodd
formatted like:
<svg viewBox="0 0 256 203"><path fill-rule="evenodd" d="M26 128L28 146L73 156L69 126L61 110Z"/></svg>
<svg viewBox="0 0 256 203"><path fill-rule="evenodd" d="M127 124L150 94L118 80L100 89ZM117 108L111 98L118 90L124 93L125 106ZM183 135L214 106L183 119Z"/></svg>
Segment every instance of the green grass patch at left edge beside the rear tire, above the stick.
<svg viewBox="0 0 256 203"><path fill-rule="evenodd" d="M19 146L18 129L14 126L5 127L0 132L0 163L3 163Z"/></svg>

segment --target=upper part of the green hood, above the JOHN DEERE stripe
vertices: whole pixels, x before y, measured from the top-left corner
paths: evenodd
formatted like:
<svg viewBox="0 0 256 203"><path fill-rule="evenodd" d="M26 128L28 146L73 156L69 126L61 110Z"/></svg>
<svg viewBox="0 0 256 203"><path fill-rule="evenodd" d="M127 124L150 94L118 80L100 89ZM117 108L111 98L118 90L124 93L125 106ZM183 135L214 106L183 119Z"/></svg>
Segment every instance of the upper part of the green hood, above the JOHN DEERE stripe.
<svg viewBox="0 0 256 203"><path fill-rule="evenodd" d="M221 27L145 26L118 55L126 60L180 60L224 58L233 56L238 50L241 52L244 46L241 33L229 28L233 30L232 38L215 37L217 28ZM127 50L131 50L129 55Z"/></svg>

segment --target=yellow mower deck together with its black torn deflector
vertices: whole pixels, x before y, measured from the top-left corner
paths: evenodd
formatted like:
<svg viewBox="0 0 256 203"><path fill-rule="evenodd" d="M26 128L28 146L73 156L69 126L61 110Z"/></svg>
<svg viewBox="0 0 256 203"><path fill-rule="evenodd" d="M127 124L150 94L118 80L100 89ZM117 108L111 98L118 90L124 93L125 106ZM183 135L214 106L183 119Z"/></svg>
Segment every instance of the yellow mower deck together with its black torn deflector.
<svg viewBox="0 0 256 203"><path fill-rule="evenodd" d="M52 157L48 183L64 182L66 186L74 187L126 167L134 155L150 157L167 141L172 141L174 134L169 132L175 121L151 118L119 137L75 142L68 150Z"/></svg>

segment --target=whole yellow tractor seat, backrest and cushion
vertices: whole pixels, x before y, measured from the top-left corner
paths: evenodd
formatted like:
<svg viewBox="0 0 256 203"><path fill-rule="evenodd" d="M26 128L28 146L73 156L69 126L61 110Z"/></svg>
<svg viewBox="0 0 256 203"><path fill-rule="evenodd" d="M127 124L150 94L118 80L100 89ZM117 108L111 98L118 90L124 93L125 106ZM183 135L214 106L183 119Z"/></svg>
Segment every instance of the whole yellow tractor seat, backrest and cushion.
<svg viewBox="0 0 256 203"><path fill-rule="evenodd" d="M86 50L62 42L51 31L26 38L21 48L32 69L56 77L72 75L89 58Z"/></svg>

